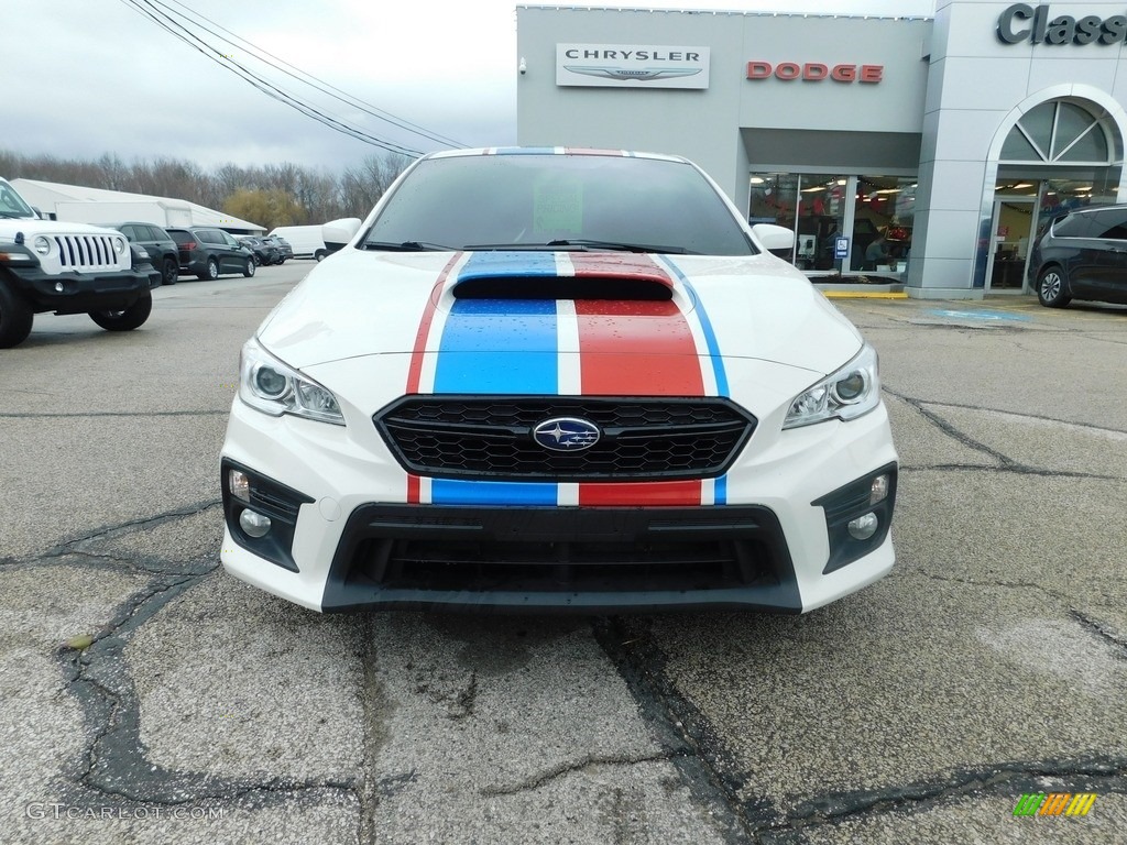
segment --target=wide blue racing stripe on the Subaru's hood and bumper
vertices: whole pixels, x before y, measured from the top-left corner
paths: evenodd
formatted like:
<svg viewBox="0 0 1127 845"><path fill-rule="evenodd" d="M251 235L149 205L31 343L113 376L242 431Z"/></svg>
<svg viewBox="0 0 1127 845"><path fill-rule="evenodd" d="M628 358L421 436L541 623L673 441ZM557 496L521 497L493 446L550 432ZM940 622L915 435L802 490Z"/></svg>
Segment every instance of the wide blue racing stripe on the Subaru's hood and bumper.
<svg viewBox="0 0 1127 845"><path fill-rule="evenodd" d="M476 254L459 279L554 274L550 254ZM554 395L559 385L556 302L455 300L435 366L435 393ZM436 505L554 505L553 482L434 479Z"/></svg>

